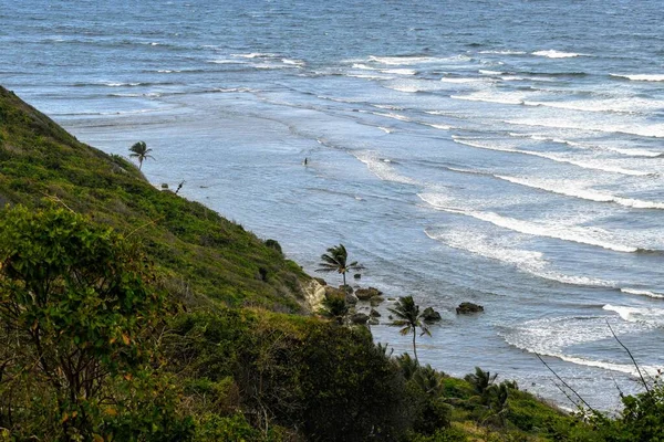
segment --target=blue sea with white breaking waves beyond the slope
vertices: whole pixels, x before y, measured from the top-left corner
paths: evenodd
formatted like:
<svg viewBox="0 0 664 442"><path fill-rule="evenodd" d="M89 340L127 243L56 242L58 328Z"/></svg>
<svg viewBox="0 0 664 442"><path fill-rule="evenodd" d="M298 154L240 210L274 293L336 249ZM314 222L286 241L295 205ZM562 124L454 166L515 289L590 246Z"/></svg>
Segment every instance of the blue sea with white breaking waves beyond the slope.
<svg viewBox="0 0 664 442"><path fill-rule="evenodd" d="M148 179L310 272L343 242L363 285L444 313L426 362L564 403L537 351L613 408L639 386L606 320L664 366L662 23L654 0L0 0L0 84L105 151L145 140Z"/></svg>

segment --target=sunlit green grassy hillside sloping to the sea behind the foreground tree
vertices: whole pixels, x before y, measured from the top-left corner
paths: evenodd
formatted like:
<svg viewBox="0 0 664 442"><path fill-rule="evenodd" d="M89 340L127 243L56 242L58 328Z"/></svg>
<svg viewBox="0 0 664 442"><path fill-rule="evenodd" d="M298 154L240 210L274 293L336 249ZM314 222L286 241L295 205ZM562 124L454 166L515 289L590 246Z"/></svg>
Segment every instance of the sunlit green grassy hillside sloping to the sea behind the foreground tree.
<svg viewBox="0 0 664 442"><path fill-rule="evenodd" d="M128 146L127 146L128 149ZM141 239L180 298L302 312L308 276L206 207L159 191L124 158L77 141L0 86L0 204L56 201Z"/></svg>

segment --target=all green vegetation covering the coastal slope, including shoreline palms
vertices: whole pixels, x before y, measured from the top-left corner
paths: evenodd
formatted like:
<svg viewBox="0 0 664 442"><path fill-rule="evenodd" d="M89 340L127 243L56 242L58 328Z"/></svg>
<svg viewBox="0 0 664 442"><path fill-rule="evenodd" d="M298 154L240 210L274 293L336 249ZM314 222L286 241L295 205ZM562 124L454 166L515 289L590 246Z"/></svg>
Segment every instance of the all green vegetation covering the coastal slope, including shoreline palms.
<svg viewBox="0 0 664 442"><path fill-rule="evenodd" d="M618 419L567 414L481 369L392 357L341 326L344 299L304 315L309 276L277 241L2 88L0 207L0 441L662 440L661 383ZM415 337L433 316L404 299Z"/></svg>

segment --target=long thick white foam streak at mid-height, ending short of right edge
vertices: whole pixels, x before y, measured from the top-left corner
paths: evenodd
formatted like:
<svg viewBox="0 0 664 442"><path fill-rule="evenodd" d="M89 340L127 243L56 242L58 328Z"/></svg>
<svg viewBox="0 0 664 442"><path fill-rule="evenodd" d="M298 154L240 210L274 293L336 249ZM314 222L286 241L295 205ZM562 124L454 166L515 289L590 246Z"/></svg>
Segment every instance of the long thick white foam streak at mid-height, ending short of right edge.
<svg viewBox="0 0 664 442"><path fill-rule="evenodd" d="M609 232L604 231L603 229L522 221L513 218L502 217L494 212L483 212L478 210L452 207L448 206L448 200L444 197L440 198L442 196L438 193L418 193L417 196L419 199L435 209L471 217L515 232L594 245L606 250L613 250L615 252L635 253L639 251L639 248L621 244L614 241Z"/></svg>

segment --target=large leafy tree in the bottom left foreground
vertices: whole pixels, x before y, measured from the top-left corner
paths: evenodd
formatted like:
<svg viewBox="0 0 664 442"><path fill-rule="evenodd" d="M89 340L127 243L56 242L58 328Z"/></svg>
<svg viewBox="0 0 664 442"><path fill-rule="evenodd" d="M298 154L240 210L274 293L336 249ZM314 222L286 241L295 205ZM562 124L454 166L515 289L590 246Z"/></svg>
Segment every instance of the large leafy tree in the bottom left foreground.
<svg viewBox="0 0 664 442"><path fill-rule="evenodd" d="M127 419L117 398L134 396L132 379L151 378L143 371L147 334L163 312L163 296L146 285L153 278L135 246L82 215L23 207L0 213L1 333L15 341L0 361L0 383L11 390L28 376L53 398L62 432L54 439L98 436L102 410L106 420ZM153 423L146 427L155 433Z"/></svg>

